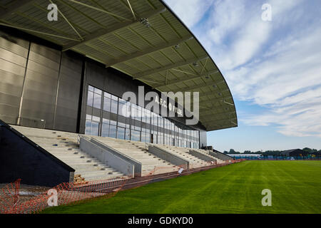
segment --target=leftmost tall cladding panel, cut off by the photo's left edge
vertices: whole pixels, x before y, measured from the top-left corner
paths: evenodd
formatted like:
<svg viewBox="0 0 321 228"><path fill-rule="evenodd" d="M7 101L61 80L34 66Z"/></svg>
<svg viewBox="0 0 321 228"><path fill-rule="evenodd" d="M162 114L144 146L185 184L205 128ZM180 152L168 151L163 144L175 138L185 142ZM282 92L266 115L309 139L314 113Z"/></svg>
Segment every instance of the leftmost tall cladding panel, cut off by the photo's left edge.
<svg viewBox="0 0 321 228"><path fill-rule="evenodd" d="M0 119L16 124L26 71L29 41L1 33Z"/></svg>

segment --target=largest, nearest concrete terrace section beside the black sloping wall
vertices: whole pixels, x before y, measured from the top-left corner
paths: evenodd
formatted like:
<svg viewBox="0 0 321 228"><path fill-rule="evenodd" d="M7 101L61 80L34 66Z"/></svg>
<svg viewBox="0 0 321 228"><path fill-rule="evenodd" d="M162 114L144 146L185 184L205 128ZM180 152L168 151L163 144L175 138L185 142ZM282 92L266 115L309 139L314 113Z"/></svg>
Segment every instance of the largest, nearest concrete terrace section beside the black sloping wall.
<svg viewBox="0 0 321 228"><path fill-rule="evenodd" d="M106 180L114 177L124 177L123 173L99 162L86 152L79 149L78 134L56 130L43 130L14 126L14 129L50 152L59 160L73 167L75 175L81 175L86 181Z"/></svg>

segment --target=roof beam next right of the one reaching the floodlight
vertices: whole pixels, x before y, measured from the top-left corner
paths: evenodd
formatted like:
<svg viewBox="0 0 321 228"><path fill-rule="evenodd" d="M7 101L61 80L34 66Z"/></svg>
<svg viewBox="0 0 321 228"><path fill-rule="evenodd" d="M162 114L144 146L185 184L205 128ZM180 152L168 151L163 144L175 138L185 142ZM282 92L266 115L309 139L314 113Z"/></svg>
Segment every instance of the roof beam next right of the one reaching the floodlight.
<svg viewBox="0 0 321 228"><path fill-rule="evenodd" d="M183 38L178 38L178 39L175 39L173 41L169 41L168 43L163 43L163 44L161 44L159 46L156 46L156 47L153 47L153 48L146 48L143 51L136 51L135 53L132 53L132 54L130 54L128 56L123 56L121 58L115 59L114 61L106 63L106 67L116 65L117 63L123 63L123 62L131 60L133 58L138 58L138 57L141 57L141 56L145 56L145 55L147 55L149 53L153 53L155 51L160 51L160 50L168 48L170 46L174 46L177 43L183 43L185 41L188 41L191 38L193 38L193 36L185 36Z"/></svg>

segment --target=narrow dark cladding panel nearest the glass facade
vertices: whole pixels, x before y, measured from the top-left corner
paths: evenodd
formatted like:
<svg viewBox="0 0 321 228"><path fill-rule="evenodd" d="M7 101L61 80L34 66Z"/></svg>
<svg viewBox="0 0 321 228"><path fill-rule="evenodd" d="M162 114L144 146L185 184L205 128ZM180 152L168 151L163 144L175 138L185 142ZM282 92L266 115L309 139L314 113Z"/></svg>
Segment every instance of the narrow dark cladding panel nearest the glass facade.
<svg viewBox="0 0 321 228"><path fill-rule="evenodd" d="M54 126L56 130L76 133L82 64L81 58L63 53Z"/></svg>

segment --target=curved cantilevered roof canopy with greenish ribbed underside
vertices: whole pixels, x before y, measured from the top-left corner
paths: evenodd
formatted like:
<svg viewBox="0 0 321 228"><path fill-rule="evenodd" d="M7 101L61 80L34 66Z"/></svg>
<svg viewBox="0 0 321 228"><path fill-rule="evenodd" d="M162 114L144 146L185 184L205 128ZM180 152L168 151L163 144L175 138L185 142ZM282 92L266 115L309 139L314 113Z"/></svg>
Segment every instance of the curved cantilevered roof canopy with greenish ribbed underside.
<svg viewBox="0 0 321 228"><path fill-rule="evenodd" d="M49 21L49 4L58 21ZM116 68L164 91L199 91L206 130L238 125L233 97L212 58L160 0L2 0L0 25Z"/></svg>

